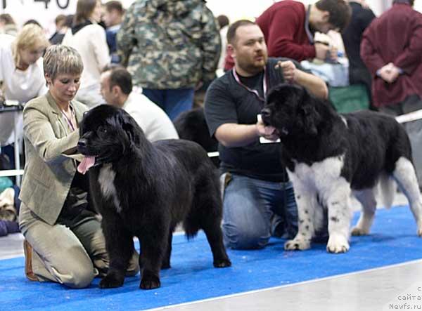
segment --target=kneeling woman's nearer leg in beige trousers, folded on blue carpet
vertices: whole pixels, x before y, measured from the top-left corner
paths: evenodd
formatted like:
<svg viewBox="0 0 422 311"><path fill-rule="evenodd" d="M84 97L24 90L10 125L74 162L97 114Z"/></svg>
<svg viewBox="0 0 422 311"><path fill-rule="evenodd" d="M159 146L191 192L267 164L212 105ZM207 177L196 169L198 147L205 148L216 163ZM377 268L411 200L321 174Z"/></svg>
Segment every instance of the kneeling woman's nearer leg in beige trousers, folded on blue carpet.
<svg viewBox="0 0 422 311"><path fill-rule="evenodd" d="M32 271L39 281L72 288L89 286L96 274L91 258L75 234L64 225L49 225L21 204L19 225L32 246Z"/></svg>

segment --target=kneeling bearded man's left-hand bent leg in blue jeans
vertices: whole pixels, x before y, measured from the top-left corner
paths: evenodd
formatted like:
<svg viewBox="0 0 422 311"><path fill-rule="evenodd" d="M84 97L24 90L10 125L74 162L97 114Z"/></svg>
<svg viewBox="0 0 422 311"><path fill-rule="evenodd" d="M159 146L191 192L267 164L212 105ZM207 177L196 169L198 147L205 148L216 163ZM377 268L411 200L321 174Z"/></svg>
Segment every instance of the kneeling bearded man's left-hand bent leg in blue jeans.
<svg viewBox="0 0 422 311"><path fill-rule="evenodd" d="M268 182L232 174L223 197L224 244L231 249L264 247L270 234L274 191ZM274 184L274 183L272 183Z"/></svg>

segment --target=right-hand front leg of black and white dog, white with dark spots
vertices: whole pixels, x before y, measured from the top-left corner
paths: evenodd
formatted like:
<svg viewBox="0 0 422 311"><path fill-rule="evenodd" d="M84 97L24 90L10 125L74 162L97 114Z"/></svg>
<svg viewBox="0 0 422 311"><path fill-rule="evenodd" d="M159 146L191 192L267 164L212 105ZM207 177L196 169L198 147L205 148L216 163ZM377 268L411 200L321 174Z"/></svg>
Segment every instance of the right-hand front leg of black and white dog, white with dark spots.
<svg viewBox="0 0 422 311"><path fill-rule="evenodd" d="M350 183L339 178L333 183L327 195L328 234L327 251L330 253L345 253L349 250L349 229L352 218Z"/></svg>

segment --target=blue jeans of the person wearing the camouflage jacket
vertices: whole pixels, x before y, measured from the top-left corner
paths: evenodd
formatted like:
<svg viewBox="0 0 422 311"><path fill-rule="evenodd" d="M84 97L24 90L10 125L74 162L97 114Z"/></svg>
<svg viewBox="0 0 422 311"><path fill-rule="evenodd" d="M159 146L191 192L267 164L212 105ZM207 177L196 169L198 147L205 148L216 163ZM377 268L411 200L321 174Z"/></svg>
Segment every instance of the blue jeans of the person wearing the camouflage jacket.
<svg viewBox="0 0 422 311"><path fill-rule="evenodd" d="M193 106L193 88L176 88L158 90L153 88L143 88L143 95L159 105L167 116L173 121L186 110L191 110Z"/></svg>

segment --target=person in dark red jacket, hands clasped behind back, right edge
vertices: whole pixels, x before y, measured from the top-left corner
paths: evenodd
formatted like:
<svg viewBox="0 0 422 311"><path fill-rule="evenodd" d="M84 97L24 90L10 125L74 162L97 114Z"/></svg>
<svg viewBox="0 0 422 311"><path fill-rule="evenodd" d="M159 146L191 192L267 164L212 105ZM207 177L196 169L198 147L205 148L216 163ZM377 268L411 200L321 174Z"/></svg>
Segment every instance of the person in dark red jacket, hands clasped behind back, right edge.
<svg viewBox="0 0 422 311"><path fill-rule="evenodd" d="M395 0L366 28L361 57L372 77L373 105L393 116L422 109L422 14ZM422 185L422 120L404 124Z"/></svg>

